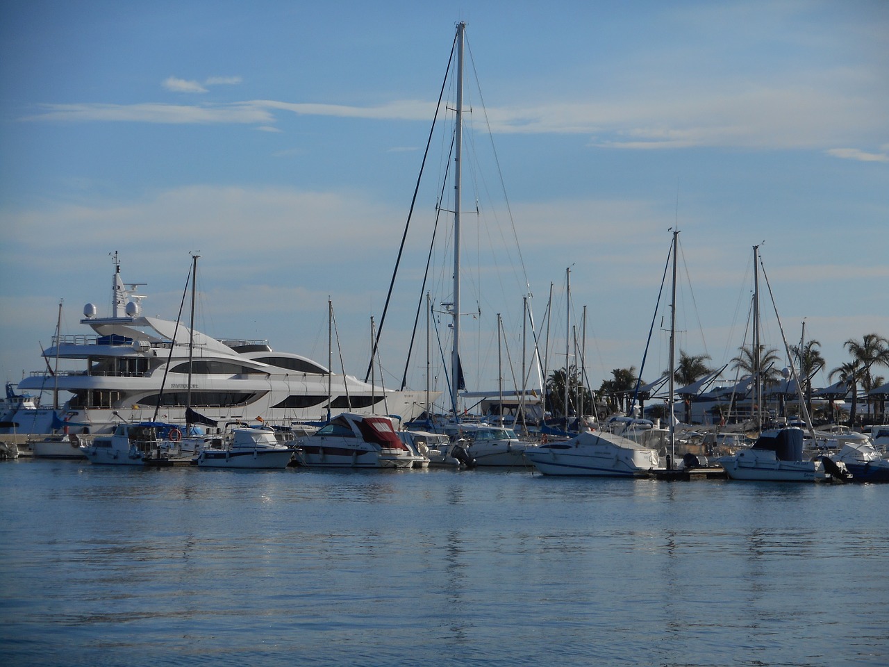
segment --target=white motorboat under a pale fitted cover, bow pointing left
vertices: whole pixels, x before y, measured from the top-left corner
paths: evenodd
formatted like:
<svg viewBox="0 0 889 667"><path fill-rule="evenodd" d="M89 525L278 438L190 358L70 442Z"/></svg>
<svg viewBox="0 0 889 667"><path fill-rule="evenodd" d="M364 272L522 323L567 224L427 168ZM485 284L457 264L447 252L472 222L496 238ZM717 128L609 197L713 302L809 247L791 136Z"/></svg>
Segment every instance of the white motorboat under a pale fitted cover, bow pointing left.
<svg viewBox="0 0 889 667"><path fill-rule="evenodd" d="M544 475L635 478L664 470L651 447L602 431L584 431L570 440L543 443L525 456Z"/></svg>

